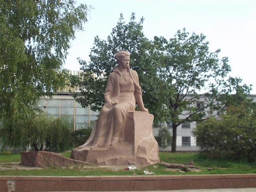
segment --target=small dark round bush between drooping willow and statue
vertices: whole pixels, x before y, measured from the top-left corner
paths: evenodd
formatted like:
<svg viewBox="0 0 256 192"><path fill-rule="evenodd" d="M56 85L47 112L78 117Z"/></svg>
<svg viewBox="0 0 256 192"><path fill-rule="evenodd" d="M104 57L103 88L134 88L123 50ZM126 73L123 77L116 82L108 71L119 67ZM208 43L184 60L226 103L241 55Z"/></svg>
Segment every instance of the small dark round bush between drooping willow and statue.
<svg viewBox="0 0 256 192"><path fill-rule="evenodd" d="M70 142L74 148L85 144L86 140L89 139L92 129L78 129L74 130L70 134Z"/></svg>

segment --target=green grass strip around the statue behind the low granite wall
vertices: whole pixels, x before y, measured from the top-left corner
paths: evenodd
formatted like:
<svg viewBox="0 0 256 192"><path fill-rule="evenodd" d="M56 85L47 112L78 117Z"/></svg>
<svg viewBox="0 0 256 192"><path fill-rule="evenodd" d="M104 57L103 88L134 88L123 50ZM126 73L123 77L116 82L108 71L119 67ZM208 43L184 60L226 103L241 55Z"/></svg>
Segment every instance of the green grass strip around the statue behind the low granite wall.
<svg viewBox="0 0 256 192"><path fill-rule="evenodd" d="M63 152L62 155L70 157L70 152ZM199 173L178 171L172 172L166 170L166 167L156 164L145 166L134 171L127 170L111 170L106 168L88 167L88 166L52 166L41 170L0 170L0 175L9 176L131 176L145 175L144 170L150 170L155 175L187 175L187 174L255 174L256 162L234 161L228 159L208 159L201 153L160 153L161 162L186 164L193 160L194 166L200 167ZM21 155L0 155L0 163L20 162ZM5 166L11 166L5 164ZM207 168L219 168L216 170L208 170Z"/></svg>

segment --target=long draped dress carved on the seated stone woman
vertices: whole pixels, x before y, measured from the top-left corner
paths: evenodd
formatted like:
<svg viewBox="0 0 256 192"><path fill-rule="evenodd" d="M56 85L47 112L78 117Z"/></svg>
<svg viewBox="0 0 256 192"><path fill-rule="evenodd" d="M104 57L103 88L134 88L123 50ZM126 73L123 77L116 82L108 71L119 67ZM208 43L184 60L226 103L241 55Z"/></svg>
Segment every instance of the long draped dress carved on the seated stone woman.
<svg viewBox="0 0 256 192"><path fill-rule="evenodd" d="M129 69L129 75L123 76L115 67L104 94L110 96L113 107L103 106L89 139L77 149L88 149L93 144L104 147L113 140L125 140L126 114L135 110L136 94L142 94L137 72Z"/></svg>

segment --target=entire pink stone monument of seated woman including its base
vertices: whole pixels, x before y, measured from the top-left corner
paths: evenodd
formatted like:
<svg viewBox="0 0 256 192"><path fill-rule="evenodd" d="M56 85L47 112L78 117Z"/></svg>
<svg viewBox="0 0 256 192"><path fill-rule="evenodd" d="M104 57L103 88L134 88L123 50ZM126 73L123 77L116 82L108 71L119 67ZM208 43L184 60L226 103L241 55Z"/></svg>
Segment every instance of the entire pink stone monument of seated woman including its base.
<svg viewBox="0 0 256 192"><path fill-rule="evenodd" d="M130 53L118 52L115 59L118 65L108 78L106 103L89 139L73 149L71 158L105 165L157 163L154 116L144 107L137 72L130 70ZM135 111L136 103L142 112Z"/></svg>

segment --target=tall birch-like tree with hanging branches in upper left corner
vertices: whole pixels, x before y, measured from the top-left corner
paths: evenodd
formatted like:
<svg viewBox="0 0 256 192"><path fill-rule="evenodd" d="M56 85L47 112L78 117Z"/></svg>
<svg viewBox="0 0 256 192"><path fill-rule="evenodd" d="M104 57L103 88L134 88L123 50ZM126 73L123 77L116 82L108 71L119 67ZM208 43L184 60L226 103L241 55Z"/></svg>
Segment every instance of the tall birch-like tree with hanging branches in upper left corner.
<svg viewBox="0 0 256 192"><path fill-rule="evenodd" d="M89 8L73 0L0 4L0 121L17 133L19 121L33 118L39 98L65 85L70 40L83 29Z"/></svg>

